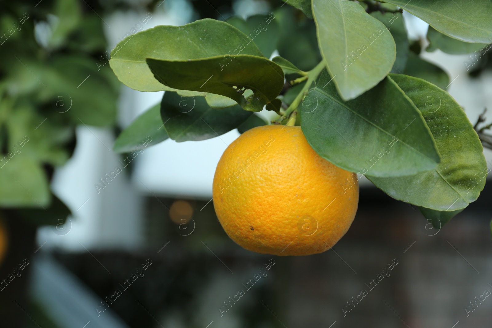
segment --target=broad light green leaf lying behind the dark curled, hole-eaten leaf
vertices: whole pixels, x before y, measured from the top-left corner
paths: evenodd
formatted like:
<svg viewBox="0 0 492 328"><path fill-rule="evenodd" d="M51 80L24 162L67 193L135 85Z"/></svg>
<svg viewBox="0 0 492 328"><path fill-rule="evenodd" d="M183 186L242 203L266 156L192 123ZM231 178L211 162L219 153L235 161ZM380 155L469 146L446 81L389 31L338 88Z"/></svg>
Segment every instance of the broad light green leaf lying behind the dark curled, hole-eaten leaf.
<svg viewBox="0 0 492 328"><path fill-rule="evenodd" d="M239 54L263 56L240 30L226 22L202 19L184 26L156 26L129 36L111 51L109 64L128 87L139 91L162 91L173 89L154 79L145 61L148 57L196 60L222 56L225 64L229 56ZM215 66L215 70L218 69L220 66Z"/></svg>

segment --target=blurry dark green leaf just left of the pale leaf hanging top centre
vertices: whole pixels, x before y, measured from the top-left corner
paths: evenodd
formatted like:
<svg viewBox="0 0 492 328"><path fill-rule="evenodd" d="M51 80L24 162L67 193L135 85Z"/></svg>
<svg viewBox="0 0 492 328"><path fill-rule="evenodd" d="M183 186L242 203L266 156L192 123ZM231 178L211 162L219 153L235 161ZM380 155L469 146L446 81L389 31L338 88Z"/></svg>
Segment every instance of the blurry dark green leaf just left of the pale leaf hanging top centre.
<svg viewBox="0 0 492 328"><path fill-rule="evenodd" d="M283 6L275 12L280 25L278 54L303 71L315 67L321 58L316 38L316 25L309 19L298 19L295 10Z"/></svg>

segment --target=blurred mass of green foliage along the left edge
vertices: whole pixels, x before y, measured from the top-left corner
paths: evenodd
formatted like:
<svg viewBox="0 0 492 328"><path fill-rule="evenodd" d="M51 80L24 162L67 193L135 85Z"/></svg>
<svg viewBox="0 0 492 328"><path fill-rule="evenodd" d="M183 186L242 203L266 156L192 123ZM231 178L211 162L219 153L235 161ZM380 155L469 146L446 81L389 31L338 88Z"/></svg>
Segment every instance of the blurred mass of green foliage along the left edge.
<svg viewBox="0 0 492 328"><path fill-rule="evenodd" d="M77 125L112 126L116 117L104 10L97 1L0 2L1 207L69 212L50 192L53 169L73 154ZM46 224L38 212L21 216Z"/></svg>

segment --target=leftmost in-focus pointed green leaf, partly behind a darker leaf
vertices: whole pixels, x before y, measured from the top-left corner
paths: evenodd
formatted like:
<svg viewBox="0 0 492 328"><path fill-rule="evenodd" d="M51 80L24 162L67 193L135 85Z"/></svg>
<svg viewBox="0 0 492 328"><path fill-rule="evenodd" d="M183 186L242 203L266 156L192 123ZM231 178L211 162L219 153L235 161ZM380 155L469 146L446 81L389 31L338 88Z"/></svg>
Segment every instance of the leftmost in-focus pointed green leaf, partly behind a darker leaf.
<svg viewBox="0 0 492 328"><path fill-rule="evenodd" d="M113 151L130 152L158 144L167 138L169 137L160 118L160 104L157 104L141 114L120 133Z"/></svg>

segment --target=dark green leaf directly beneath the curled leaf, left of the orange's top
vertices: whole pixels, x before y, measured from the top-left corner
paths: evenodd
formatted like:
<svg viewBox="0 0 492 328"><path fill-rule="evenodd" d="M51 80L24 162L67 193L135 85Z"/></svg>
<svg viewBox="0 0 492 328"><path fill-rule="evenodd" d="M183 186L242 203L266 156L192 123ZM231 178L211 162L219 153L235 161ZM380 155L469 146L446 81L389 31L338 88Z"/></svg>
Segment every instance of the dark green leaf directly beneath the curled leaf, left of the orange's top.
<svg viewBox="0 0 492 328"><path fill-rule="evenodd" d="M215 138L237 128L251 114L239 105L213 109L204 97L184 97L169 91L164 93L160 107L167 134L177 142Z"/></svg>

